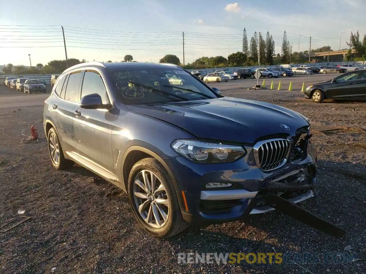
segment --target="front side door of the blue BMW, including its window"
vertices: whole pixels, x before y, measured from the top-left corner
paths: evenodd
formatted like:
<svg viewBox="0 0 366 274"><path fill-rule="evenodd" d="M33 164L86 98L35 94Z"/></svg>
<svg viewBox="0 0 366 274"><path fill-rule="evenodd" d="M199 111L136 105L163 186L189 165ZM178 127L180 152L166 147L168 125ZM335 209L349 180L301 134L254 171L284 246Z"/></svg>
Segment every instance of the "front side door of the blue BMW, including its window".
<svg viewBox="0 0 366 274"><path fill-rule="evenodd" d="M78 103L88 94L99 94L104 104L110 103L104 83L97 71L85 71ZM113 174L113 114L104 109L82 109L80 106L77 106L74 112L75 153L101 170Z"/></svg>

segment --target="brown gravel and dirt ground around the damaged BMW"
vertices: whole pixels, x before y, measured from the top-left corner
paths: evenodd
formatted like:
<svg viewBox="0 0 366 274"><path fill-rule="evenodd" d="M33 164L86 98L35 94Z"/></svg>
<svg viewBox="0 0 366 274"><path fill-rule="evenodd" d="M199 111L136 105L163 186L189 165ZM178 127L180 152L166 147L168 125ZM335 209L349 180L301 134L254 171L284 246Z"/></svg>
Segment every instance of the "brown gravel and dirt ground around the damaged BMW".
<svg viewBox="0 0 366 274"><path fill-rule="evenodd" d="M315 104L300 92L288 91L223 94L279 104L310 118L320 174L315 198L303 207L345 228L344 239L279 212L156 239L138 227L127 195L112 184L78 166L53 170L42 107L20 107L0 110L0 225L18 216L18 210L31 219L0 232L0 273L366 273L366 103ZM40 132L40 141L20 144L30 125ZM344 251L346 246L352 249ZM274 250L349 252L362 260L329 265L178 265L177 259L179 252Z"/></svg>

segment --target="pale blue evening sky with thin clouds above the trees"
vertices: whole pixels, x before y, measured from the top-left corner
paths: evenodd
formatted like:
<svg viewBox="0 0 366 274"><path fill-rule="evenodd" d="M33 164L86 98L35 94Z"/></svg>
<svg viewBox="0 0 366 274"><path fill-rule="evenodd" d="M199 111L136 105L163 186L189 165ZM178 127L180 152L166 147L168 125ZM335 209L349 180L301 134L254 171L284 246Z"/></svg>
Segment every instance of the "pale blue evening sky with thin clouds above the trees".
<svg viewBox="0 0 366 274"><path fill-rule="evenodd" d="M175 54L183 63L202 56L227 57L242 50L254 31L269 31L280 53L286 31L292 52L346 48L351 31L366 33L366 0L18 0L0 1L0 65L47 64L68 58L87 61L158 62ZM9 12L5 12L9 9ZM16 16L15 16L16 14ZM341 34L342 33L342 34ZM300 36L299 36L300 35ZM341 45L340 45L341 38Z"/></svg>

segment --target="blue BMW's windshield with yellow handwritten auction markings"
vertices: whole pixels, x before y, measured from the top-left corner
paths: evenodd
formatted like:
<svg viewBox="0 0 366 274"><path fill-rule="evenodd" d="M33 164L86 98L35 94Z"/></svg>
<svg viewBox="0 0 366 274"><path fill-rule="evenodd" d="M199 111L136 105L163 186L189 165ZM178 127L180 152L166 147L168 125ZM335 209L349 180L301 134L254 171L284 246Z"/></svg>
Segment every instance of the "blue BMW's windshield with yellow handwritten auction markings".
<svg viewBox="0 0 366 274"><path fill-rule="evenodd" d="M174 102L177 97L181 100L216 98L200 80L182 69L119 69L111 73L120 100L125 104ZM163 91L164 94L156 90Z"/></svg>

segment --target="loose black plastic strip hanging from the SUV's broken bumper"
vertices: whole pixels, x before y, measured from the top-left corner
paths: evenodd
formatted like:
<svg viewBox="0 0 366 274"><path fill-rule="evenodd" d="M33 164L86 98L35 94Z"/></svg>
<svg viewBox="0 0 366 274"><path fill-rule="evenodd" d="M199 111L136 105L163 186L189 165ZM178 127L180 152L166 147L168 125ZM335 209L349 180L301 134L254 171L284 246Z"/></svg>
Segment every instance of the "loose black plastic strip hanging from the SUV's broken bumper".
<svg viewBox="0 0 366 274"><path fill-rule="evenodd" d="M333 225L330 222L327 222L322 218L311 214L309 211L300 208L298 205L288 201L287 199L271 193L265 195L263 198L272 208L275 208L276 210L292 218L295 218L304 224L310 225L310 227L318 229L337 238L344 237L346 234L346 231L343 228L337 227L336 225Z"/></svg>

